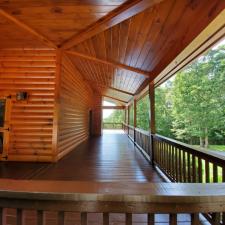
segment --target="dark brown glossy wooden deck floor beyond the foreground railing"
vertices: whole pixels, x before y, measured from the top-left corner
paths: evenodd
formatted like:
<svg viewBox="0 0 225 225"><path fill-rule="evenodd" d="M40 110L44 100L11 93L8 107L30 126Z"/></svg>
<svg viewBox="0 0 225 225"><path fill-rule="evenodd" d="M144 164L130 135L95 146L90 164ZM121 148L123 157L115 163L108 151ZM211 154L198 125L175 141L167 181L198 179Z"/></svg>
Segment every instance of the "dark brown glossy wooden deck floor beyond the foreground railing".
<svg viewBox="0 0 225 225"><path fill-rule="evenodd" d="M162 182L123 133L82 143L58 163L1 162L0 177L13 179Z"/></svg>

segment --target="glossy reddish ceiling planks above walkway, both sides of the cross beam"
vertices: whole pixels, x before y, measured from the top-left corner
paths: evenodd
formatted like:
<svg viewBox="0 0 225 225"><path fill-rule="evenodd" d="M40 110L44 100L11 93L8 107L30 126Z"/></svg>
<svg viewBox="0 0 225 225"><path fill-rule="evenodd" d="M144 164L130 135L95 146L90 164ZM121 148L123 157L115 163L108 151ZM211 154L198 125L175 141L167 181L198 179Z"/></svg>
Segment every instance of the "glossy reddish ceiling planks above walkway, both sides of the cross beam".
<svg viewBox="0 0 225 225"><path fill-rule="evenodd" d="M149 71L152 80L224 7L224 2L216 1L206 3L199 0L193 3L188 0L166 0L93 36L72 50ZM74 63L88 79L125 91L137 92L147 80L133 72L103 66L88 59L78 59L76 56Z"/></svg>

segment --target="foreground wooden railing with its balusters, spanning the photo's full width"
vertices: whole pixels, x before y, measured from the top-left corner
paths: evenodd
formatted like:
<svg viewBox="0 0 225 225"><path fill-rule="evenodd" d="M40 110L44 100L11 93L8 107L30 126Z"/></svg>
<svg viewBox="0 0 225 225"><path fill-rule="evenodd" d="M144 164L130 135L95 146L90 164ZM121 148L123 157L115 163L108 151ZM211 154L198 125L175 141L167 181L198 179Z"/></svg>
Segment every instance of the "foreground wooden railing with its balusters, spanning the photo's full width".
<svg viewBox="0 0 225 225"><path fill-rule="evenodd" d="M1 221L14 209L13 225L31 221L43 225L49 219L51 224L64 225L71 223L71 213L78 214L81 225L90 224L90 213L101 213L98 224L103 225L110 224L114 213L123 213L126 225L131 225L137 214L146 214L149 225L154 224L155 214L169 214L168 223L177 224L177 215L184 213L190 224L199 224L200 213L209 212L214 213L213 224L220 224L218 212L225 211L225 184L2 180L0 209ZM55 217L48 218L49 212Z"/></svg>

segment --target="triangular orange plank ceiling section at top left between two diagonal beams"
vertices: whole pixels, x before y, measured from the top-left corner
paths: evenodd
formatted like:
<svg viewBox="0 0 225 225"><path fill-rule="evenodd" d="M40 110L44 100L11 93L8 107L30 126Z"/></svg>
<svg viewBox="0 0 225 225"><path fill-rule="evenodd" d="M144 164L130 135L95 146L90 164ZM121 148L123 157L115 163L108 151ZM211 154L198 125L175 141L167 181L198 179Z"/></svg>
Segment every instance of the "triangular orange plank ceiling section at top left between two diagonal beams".
<svg viewBox="0 0 225 225"><path fill-rule="evenodd" d="M0 8L45 35L55 45L60 45L124 2L125 0L13 0L1 1Z"/></svg>

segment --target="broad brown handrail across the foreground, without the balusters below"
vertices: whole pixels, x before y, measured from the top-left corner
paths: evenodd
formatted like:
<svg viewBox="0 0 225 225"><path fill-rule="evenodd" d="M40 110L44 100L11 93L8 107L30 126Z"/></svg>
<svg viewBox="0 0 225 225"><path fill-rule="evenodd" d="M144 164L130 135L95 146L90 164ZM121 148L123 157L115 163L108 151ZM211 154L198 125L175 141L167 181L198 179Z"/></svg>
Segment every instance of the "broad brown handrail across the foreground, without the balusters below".
<svg viewBox="0 0 225 225"><path fill-rule="evenodd" d="M35 181L35 180L10 180L1 179L0 183L0 207L5 207L7 200L22 201L62 201L62 202L117 202L120 203L151 203L157 207L132 208L122 205L117 212L138 213L173 213L173 212L216 212L225 210L225 184L181 184L181 183L118 183L118 182L78 182L78 181ZM4 201L2 201L4 199ZM21 200L21 201L20 201ZM15 202L14 202L15 203ZM162 203L168 204L166 207ZM185 203L185 204L184 204ZM32 208L43 210L40 204L33 204ZM159 205L157 205L159 204ZM183 204L182 208L174 205ZM188 208L188 204L197 204ZM206 207L203 207L207 204ZM216 206L216 204L218 204ZM113 205L113 204L112 204ZM12 207L11 203L7 204ZM150 206L150 205L149 205ZM201 206L201 207L199 207ZM26 208L23 203L18 208ZM52 210L73 208L55 205ZM202 208L203 207L203 208ZM30 206L29 206L30 208ZM97 209L87 211L98 212ZM107 206L106 206L107 208ZM104 211L111 212L111 209ZM123 208L123 209L122 209ZM126 209L125 209L126 208ZM204 209L205 208L205 209ZM76 209L82 211L82 209Z"/></svg>

